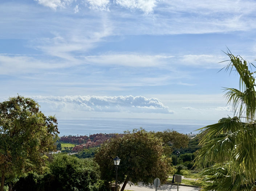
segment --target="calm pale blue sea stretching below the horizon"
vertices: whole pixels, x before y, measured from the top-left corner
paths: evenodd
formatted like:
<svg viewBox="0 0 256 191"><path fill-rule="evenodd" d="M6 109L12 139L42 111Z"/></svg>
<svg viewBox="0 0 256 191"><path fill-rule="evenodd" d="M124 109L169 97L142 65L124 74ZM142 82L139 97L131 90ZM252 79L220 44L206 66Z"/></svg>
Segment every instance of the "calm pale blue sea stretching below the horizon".
<svg viewBox="0 0 256 191"><path fill-rule="evenodd" d="M143 128L146 131L174 130L184 134L196 134L199 128L217 123L214 120L188 119L131 119L131 118L85 118L59 119L59 136L80 136L96 133L123 133Z"/></svg>

